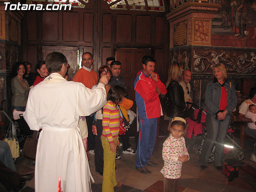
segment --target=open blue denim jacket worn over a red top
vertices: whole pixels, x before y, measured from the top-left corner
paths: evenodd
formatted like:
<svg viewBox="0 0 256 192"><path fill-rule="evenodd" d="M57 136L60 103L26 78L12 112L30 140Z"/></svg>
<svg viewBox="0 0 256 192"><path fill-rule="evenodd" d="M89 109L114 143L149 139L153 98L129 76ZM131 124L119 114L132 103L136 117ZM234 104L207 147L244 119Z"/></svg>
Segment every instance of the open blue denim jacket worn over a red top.
<svg viewBox="0 0 256 192"><path fill-rule="evenodd" d="M225 81L224 87L226 88L227 92L227 107L226 110L228 113L231 113L237 104L237 97L236 97L236 88L234 84L231 82ZM220 110L220 97L221 97L221 85L218 81L210 81L206 85L206 90L204 94L206 110L210 112L210 114L216 114Z"/></svg>

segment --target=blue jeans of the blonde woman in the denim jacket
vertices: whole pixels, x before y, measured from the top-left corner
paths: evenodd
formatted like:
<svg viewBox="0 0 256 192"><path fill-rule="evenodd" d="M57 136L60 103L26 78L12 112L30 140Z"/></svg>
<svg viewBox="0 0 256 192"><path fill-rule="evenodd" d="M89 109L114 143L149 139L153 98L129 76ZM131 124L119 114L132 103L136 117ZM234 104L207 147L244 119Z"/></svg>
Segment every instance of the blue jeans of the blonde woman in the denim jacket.
<svg viewBox="0 0 256 192"><path fill-rule="evenodd" d="M223 121L216 120L215 117L214 114L206 114L207 136L199 158L200 165L207 165L208 157L216 140L214 164L215 166L222 166L224 140L230 124L230 114L226 114L226 118Z"/></svg>

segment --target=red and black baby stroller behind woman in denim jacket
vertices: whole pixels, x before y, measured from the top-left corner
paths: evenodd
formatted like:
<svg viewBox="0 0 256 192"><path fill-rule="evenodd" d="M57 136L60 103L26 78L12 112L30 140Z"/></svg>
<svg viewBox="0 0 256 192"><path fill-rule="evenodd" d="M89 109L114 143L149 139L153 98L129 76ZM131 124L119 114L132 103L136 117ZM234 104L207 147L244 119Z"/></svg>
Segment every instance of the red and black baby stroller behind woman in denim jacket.
<svg viewBox="0 0 256 192"><path fill-rule="evenodd" d="M190 120L193 120L197 123L202 124L202 128L205 129L206 128L206 126L205 126L206 110L203 110L202 108L200 108L199 106L197 106L195 104L192 104L192 103L189 103L189 102L187 102L187 103L192 105L192 108L195 110L194 114L197 114L196 119L193 119L191 117L188 118L188 124L189 124ZM197 111L199 111L199 112L197 112ZM202 113L200 113L200 111ZM199 115L201 115L201 117L198 117ZM198 121L198 120L200 120L200 121ZM189 124L189 126L190 126L190 124ZM191 129L191 128L189 128L189 129ZM244 158L244 152L242 151L242 148L236 142L234 142L234 137L233 137L234 132L235 131L233 130L233 126L229 126L228 133L226 135L226 144L224 145L224 154L231 153L232 158L240 161ZM203 134L202 142L200 144L193 144L192 143L193 151L197 155L201 154L201 151L202 151L202 148L203 148L203 145L204 145L204 141L206 140L206 135L207 135L207 133L206 133L206 130L205 130L204 134ZM186 134L186 136L187 136L187 134ZM235 145L235 147L233 146L233 144ZM207 160L208 162L213 162L214 161L215 149L216 149L216 141L215 141L215 143L212 147L210 156Z"/></svg>

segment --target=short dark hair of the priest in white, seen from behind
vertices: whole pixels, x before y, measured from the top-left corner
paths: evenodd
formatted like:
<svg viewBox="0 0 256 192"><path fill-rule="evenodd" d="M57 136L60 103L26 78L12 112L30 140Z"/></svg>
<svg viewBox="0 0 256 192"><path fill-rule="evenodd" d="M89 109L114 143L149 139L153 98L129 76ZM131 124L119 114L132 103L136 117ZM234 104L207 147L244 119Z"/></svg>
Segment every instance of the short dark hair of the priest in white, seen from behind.
<svg viewBox="0 0 256 192"><path fill-rule="evenodd" d="M62 64L67 64L68 60L64 54L60 52L51 52L46 56L45 64L49 73L59 72Z"/></svg>

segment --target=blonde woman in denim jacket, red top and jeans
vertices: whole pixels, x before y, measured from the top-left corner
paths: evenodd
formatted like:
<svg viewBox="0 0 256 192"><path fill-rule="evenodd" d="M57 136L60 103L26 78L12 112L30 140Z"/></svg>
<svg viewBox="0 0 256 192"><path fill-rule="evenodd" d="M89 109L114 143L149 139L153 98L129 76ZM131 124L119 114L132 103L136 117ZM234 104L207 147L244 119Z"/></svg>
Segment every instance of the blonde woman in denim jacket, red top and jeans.
<svg viewBox="0 0 256 192"><path fill-rule="evenodd" d="M236 89L232 82L227 81L224 64L217 63L213 68L213 81L209 82L205 90L207 107L206 131L199 163L202 169L207 168L207 160L216 140L215 166L222 169L224 139L232 118L232 111L236 107Z"/></svg>

